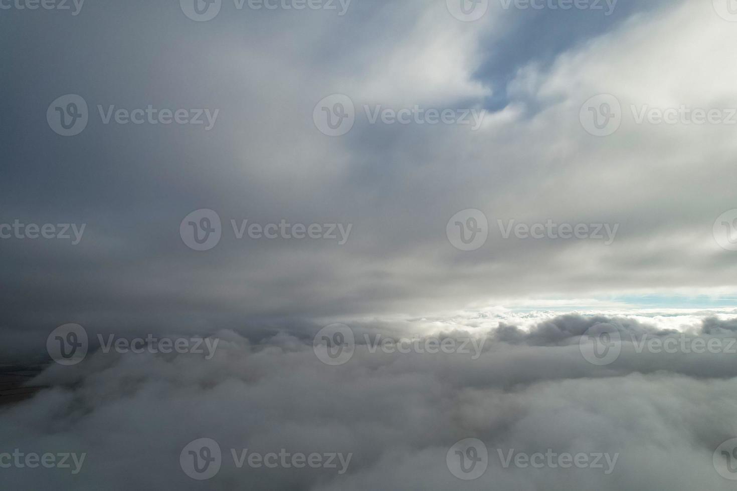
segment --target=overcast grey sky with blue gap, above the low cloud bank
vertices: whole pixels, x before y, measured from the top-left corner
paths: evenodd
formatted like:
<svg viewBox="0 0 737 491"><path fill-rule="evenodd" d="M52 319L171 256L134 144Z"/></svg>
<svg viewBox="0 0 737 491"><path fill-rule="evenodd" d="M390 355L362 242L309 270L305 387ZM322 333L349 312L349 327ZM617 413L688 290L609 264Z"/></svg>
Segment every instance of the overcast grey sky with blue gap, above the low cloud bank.
<svg viewBox="0 0 737 491"><path fill-rule="evenodd" d="M0 242L2 323L245 328L642 294L733 305L737 252L713 225L737 208L735 128L636 124L630 109L733 105L737 26L710 3L491 1L472 22L426 0L347 10L225 1L210 21L176 1L3 10L0 222L86 227L76 245ZM356 114L338 137L312 117L334 93ZM579 118L601 93L621 103L621 127L606 137ZM71 137L44 117L65 94L88 105ZM210 130L104 124L111 105L219 112ZM365 105L486 113L476 130L371 124ZM203 208L223 232L199 252L179 229ZM473 251L446 233L467 209L489 223ZM345 244L236 239L231 219L352 229ZM497 220L618 229L611 244L504 239Z"/></svg>

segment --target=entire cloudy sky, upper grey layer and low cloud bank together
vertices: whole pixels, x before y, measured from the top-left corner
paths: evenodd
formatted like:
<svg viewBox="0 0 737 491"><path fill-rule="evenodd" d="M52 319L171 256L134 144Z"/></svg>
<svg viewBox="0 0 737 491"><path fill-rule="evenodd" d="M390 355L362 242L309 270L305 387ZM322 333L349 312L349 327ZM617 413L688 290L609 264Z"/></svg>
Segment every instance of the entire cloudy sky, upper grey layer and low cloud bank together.
<svg viewBox="0 0 737 491"><path fill-rule="evenodd" d="M359 448L363 463L345 481L275 472L262 486L447 489L434 464L447 439L544 451L565 439L556 423L586 428L573 446L624 448L629 472L504 474L500 489L726 486L709 459L734 432L727 357L624 356L611 369L576 345L601 323L622 336L735 330L733 0L43 5L0 0L0 356L48 360L49 333L69 324L91 350L45 372L52 389L7 409L20 429L0 435L97 451L113 475L138 469L140 489L197 489L156 472L168 469L158 459L234 425L262 446L292 431L296 444ZM389 362L358 342L350 367L326 374L312 340L334 323L357 339L492 347L466 366ZM551 323L562 334L541 342ZM97 350L149 334L226 348L213 363ZM344 387L359 375L368 388ZM339 401L324 400L326 381ZM269 414L280 392L304 411ZM698 398L719 402L701 417ZM186 421L186 400L212 424L131 455L178 428L167 417ZM325 423L325 411L349 413ZM130 439L106 430L93 443L105 421ZM689 475L680 459L699 464ZM70 482L99 489L104 476ZM47 477L13 474L19 486ZM242 484L233 469L215 479Z"/></svg>

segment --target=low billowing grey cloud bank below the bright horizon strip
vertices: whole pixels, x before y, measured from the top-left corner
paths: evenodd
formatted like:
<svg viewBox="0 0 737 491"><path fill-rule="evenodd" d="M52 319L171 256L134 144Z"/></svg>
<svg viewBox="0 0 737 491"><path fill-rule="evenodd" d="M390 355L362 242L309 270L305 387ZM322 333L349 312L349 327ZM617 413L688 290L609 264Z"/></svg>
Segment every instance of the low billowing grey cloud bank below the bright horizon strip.
<svg viewBox="0 0 737 491"><path fill-rule="evenodd" d="M608 366L591 364L580 345L584 333L601 325L622 338L621 355ZM729 319L704 317L693 327L689 339L720 339L723 346L733 335ZM714 336L717 327L722 333ZM735 355L636 349L646 336L679 335L628 317L570 314L529 329L506 324L477 334L483 353L476 359L371 353L360 343L346 364L328 366L312 345L292 336L252 345L228 332L220 333L209 360L97 352L74 367L50 367L38 382L52 388L1 414L0 451L86 453L80 473L3 469L4 484L28 490L51 483L78 490L729 490L732 481L717 473L713 453L737 437ZM488 468L475 481L459 481L447 453L469 437L488 449ZM214 439L223 452L219 472L206 482L186 476L180 464L186 445L201 438ZM241 455L245 448L351 459L344 473L340 464L238 468L230 451ZM504 467L510 451L616 460L611 468Z"/></svg>

